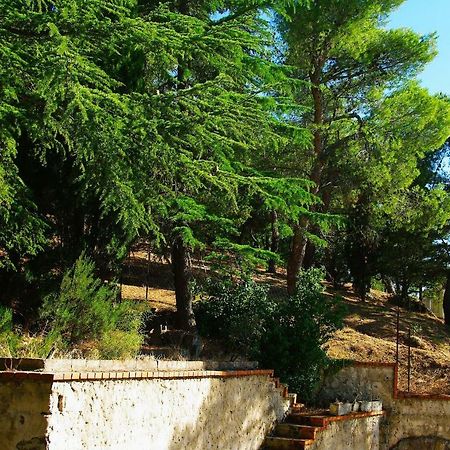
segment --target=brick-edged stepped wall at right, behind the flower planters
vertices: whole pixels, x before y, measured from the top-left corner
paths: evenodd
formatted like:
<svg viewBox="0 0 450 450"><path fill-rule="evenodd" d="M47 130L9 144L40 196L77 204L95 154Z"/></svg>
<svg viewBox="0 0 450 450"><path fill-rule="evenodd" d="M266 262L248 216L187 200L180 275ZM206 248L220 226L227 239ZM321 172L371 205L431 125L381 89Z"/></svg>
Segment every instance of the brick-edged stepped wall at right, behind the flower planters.
<svg viewBox="0 0 450 450"><path fill-rule="evenodd" d="M319 394L322 404L355 397L378 397L383 401L386 416L380 422L381 450L450 449L450 396L399 392L395 364L346 366L325 379Z"/></svg>

